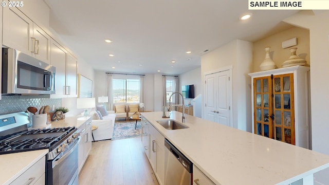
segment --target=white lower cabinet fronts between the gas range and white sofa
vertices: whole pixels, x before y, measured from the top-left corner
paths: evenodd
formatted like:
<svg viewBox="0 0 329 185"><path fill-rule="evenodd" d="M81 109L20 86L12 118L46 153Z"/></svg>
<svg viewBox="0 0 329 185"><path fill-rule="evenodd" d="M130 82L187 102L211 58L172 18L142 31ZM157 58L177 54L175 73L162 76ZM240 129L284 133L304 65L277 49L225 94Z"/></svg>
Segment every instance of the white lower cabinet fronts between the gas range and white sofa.
<svg viewBox="0 0 329 185"><path fill-rule="evenodd" d="M86 161L90 150L92 149L92 119L88 119L86 122L78 127L78 134L80 135L79 151L78 151L78 167L79 173Z"/></svg>

